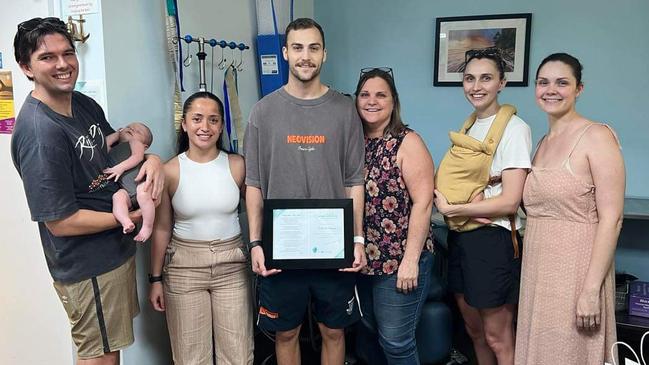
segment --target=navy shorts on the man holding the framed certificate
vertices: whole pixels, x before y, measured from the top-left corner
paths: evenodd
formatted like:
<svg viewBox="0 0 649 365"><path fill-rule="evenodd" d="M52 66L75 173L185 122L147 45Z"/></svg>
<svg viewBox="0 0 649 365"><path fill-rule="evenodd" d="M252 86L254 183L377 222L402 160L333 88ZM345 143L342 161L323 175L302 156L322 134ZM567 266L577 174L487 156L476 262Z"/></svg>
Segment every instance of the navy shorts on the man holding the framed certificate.
<svg viewBox="0 0 649 365"><path fill-rule="evenodd" d="M302 324L313 303L316 320L329 328L345 328L360 319L356 274L337 270L285 270L259 277L257 325L288 331Z"/></svg>

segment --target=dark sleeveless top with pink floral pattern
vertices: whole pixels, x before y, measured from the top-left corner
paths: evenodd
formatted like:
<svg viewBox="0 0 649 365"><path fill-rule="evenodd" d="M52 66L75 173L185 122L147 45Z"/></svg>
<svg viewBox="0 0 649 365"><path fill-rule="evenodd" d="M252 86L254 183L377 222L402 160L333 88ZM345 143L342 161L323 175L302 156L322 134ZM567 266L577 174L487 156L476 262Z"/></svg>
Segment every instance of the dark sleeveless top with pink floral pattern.
<svg viewBox="0 0 649 365"><path fill-rule="evenodd" d="M396 136L390 134L365 139L365 252L368 275L390 275L397 272L406 250L410 194L397 165L397 151L405 129ZM424 250L433 250L433 234L429 230Z"/></svg>

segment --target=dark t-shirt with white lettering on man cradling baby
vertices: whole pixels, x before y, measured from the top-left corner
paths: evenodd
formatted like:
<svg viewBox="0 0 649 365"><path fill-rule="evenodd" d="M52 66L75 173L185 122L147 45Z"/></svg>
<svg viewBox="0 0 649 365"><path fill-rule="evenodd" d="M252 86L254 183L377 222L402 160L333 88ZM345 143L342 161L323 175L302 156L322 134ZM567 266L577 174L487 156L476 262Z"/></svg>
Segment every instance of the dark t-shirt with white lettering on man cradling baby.
<svg viewBox="0 0 649 365"><path fill-rule="evenodd" d="M23 180L31 218L38 222L52 278L73 283L106 273L135 254L121 227L81 236L56 237L44 222L79 209L111 212L115 182L102 178L108 166L105 136L113 133L101 107L74 92L72 115L56 113L28 95L11 139L11 155Z"/></svg>

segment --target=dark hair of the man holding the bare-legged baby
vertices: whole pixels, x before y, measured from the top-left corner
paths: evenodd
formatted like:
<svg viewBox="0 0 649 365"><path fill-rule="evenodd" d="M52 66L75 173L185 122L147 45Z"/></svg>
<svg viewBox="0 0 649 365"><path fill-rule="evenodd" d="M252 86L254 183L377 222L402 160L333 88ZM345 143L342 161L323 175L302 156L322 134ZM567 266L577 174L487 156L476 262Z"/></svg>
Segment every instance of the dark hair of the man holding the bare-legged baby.
<svg viewBox="0 0 649 365"><path fill-rule="evenodd" d="M68 27L59 18L33 18L18 24L18 31L14 37L16 62L19 65L28 65L32 53L41 45L43 37L56 33L64 36L70 42L72 49L76 51L72 36L68 33ZM27 78L33 81L31 77Z"/></svg>

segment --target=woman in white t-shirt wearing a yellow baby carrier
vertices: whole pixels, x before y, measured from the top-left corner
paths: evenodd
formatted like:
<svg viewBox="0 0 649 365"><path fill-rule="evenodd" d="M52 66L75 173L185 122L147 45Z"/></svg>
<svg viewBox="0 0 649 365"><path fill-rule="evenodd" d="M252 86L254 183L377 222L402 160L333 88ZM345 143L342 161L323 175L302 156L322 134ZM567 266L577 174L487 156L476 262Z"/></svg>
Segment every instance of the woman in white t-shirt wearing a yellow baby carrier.
<svg viewBox="0 0 649 365"><path fill-rule="evenodd" d="M474 112L435 176L435 205L449 226L448 284L480 365L514 363L522 240L516 213L531 167L530 128L500 105L505 62L498 48L471 50L464 95Z"/></svg>

